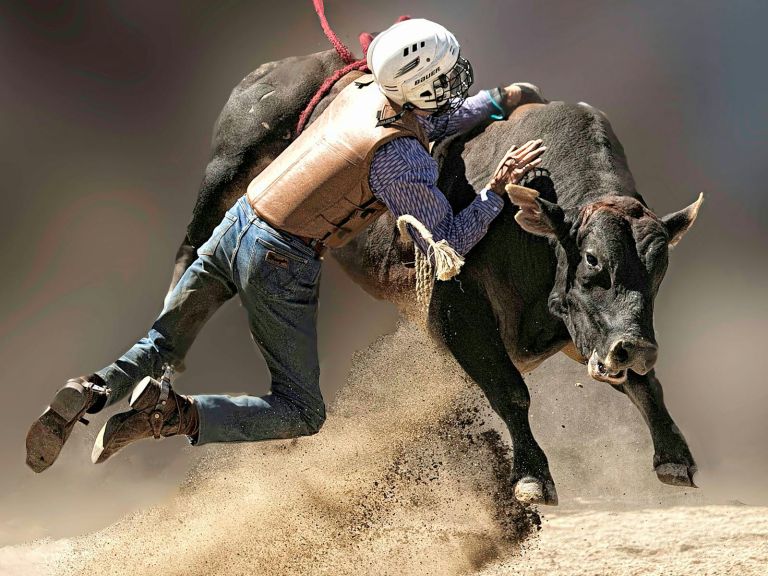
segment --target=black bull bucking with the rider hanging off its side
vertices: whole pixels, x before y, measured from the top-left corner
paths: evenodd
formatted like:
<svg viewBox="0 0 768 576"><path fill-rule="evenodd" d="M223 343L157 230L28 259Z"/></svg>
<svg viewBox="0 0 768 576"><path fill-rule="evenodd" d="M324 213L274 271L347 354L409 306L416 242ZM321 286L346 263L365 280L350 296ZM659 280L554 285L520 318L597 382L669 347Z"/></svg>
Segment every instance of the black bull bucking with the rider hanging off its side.
<svg viewBox="0 0 768 576"><path fill-rule="evenodd" d="M214 131L187 237L171 286L224 211L295 136L298 115L324 78L342 65L333 51L265 64L233 90ZM315 111L317 116L340 83ZM555 504L547 458L528 422L521 372L563 351L590 375L624 392L648 424L662 482L693 486L693 457L669 415L653 365L653 301L668 247L693 224L701 199L658 218L637 193L608 120L588 105L523 106L438 145L439 187L460 210L513 143L542 138L541 170L506 202L461 274L435 285L433 334L482 388L512 438L515 495ZM518 208L519 207L519 208ZM333 256L352 279L401 306L412 299L413 248L387 214Z"/></svg>

